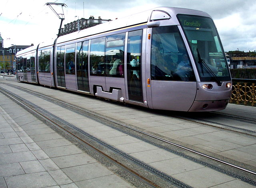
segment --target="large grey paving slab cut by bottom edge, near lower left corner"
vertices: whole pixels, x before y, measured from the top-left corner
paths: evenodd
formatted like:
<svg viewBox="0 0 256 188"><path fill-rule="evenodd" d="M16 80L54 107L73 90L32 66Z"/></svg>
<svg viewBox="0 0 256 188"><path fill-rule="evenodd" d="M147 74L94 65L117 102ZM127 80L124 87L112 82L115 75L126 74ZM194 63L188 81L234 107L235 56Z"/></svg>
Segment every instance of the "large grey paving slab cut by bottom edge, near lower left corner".
<svg viewBox="0 0 256 188"><path fill-rule="evenodd" d="M5 179L8 188L39 188L57 185L48 172L9 176Z"/></svg>

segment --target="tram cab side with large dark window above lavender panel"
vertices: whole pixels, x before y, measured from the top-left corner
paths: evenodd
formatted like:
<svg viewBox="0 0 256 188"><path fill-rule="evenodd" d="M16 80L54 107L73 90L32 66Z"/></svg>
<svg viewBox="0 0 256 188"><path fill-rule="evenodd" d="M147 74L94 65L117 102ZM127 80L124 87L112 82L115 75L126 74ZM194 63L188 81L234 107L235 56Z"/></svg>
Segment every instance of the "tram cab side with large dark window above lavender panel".
<svg viewBox="0 0 256 188"><path fill-rule="evenodd" d="M178 67L184 55L188 57L178 27L148 28L147 36L145 82L148 106L188 111L196 96L196 80L195 76L183 74ZM186 61L190 63L188 58Z"/></svg>

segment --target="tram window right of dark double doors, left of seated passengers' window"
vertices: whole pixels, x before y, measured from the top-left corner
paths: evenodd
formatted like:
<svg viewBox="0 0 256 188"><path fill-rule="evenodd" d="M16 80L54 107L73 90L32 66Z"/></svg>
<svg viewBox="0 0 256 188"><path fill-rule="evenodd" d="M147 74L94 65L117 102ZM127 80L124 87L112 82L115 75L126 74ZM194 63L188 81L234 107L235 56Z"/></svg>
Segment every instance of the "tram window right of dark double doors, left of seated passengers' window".
<svg viewBox="0 0 256 188"><path fill-rule="evenodd" d="M106 37L95 38L90 44L90 75L105 76L105 41Z"/></svg>

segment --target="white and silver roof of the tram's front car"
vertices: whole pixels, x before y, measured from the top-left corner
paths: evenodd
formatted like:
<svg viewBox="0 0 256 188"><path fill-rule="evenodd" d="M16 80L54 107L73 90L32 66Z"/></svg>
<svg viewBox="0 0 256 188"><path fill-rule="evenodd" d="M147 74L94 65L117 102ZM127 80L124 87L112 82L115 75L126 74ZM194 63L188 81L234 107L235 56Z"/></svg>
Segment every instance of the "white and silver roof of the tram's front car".
<svg viewBox="0 0 256 188"><path fill-rule="evenodd" d="M151 10L146 10L144 12L140 12L137 14L132 14L132 15L126 16L124 18L120 18L120 19L112 20L110 22L99 24L99 25L93 26L91 28L87 28L84 30L66 34L64 36L60 36L57 39L57 44L62 43L62 42L67 42L70 40L75 40L78 38L83 38L86 36L91 36L94 34L104 33L104 32L119 29L119 28L125 28L127 26L133 26L136 24L147 23L149 20L148 18L150 17L152 11L154 11L154 10L160 10L160 11L167 12L171 17L170 20L173 25L179 25L178 19L176 18L177 14L192 14L192 15L210 17L209 14L199 11L199 10L192 10L192 9L186 9L186 8L173 8L173 7L157 7L157 8L153 8Z"/></svg>

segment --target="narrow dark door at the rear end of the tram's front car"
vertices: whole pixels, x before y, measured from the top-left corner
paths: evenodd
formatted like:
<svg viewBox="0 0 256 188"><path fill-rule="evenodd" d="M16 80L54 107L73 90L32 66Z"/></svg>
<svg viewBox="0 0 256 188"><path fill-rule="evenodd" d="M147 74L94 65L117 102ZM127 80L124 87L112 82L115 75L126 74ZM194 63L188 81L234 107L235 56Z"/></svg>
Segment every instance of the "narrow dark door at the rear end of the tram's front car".
<svg viewBox="0 0 256 188"><path fill-rule="evenodd" d="M57 63L56 63L57 86L61 88L66 88L64 54L65 54L65 46L57 47Z"/></svg>

